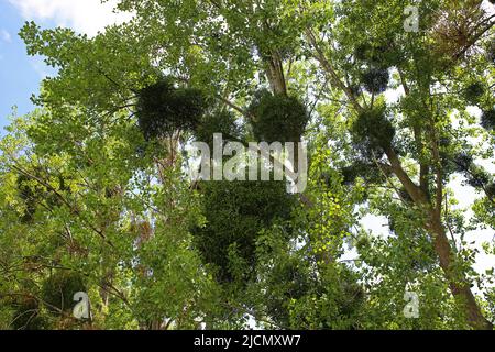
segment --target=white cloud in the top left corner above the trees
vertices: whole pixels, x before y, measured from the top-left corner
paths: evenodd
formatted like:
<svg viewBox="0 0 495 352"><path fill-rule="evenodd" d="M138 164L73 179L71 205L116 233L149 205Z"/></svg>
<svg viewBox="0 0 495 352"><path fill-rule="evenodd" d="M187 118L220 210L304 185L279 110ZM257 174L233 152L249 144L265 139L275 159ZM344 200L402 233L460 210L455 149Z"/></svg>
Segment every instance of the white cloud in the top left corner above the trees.
<svg viewBox="0 0 495 352"><path fill-rule="evenodd" d="M128 13L113 13L117 0L9 0L28 21L51 20L56 25L95 35L109 24L122 23Z"/></svg>

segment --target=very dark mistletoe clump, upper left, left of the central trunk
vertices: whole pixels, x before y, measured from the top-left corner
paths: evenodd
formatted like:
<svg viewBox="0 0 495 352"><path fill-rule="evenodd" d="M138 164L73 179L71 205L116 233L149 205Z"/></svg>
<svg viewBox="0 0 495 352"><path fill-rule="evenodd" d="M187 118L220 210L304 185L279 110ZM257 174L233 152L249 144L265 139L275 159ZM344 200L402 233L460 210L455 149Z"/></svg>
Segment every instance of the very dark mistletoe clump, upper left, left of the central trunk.
<svg viewBox="0 0 495 352"><path fill-rule="evenodd" d="M146 140L194 131L206 109L202 92L194 88L176 88L162 78L139 92L138 123Z"/></svg>

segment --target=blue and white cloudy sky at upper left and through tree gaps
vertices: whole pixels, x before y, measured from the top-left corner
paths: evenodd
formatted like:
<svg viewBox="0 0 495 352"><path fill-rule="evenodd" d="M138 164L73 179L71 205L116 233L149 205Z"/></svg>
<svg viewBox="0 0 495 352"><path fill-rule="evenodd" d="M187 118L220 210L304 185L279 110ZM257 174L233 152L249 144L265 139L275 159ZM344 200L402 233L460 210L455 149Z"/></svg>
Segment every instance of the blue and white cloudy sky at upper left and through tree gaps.
<svg viewBox="0 0 495 352"><path fill-rule="evenodd" d="M129 19L129 14L112 12L116 0L105 4L100 0L0 0L0 135L9 123L12 107L16 106L18 116L33 110L30 97L37 94L40 81L54 75L54 70L44 65L41 57L26 55L25 46L18 33L25 21L35 21L42 28L69 26L79 33L90 36L105 29L106 25ZM389 99L395 99L396 94ZM495 165L487 166L495 172ZM463 187L458 177L450 186L458 189L459 207L468 207L476 197L472 188ZM388 234L387 221L384 218L369 216L363 224L375 234ZM475 241L481 248L484 241L491 241L493 231L472 231L468 240ZM482 251L483 252L483 251ZM346 257L355 256L350 252ZM475 268L479 272L495 265L495 256L477 255Z"/></svg>

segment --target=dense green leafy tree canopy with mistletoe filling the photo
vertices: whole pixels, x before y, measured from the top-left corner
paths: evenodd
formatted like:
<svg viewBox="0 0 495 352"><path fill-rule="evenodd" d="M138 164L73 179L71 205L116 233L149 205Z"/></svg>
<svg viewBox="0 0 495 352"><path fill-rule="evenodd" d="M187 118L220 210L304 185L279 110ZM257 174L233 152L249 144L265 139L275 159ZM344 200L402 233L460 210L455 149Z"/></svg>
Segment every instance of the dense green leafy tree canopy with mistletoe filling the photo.
<svg viewBox="0 0 495 352"><path fill-rule="evenodd" d="M121 0L133 20L95 37L26 23L57 75L0 141L0 328L492 329L466 239L495 230L493 15L421 1L407 32L407 6ZM213 133L304 140L308 187L191 182Z"/></svg>

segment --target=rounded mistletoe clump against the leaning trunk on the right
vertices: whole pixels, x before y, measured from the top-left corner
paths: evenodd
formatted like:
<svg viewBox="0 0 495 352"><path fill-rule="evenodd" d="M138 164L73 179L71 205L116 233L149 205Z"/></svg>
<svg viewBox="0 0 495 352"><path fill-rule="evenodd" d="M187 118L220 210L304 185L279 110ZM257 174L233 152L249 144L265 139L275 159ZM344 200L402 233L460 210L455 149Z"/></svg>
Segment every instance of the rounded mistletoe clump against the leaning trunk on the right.
<svg viewBox="0 0 495 352"><path fill-rule="evenodd" d="M352 141L369 162L380 158L392 147L395 128L386 118L384 108L365 110L358 116L352 128Z"/></svg>

